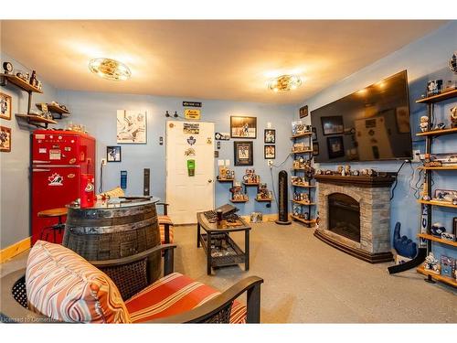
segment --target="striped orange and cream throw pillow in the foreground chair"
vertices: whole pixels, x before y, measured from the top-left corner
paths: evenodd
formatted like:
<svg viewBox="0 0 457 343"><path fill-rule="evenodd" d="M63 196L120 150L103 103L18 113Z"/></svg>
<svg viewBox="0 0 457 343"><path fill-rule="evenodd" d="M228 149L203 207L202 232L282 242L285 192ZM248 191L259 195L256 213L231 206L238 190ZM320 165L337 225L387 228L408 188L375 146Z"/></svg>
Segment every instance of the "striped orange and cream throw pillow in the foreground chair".
<svg viewBox="0 0 457 343"><path fill-rule="evenodd" d="M112 280L76 252L37 241L28 255L28 307L63 322L129 323Z"/></svg>

